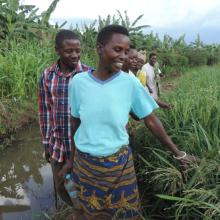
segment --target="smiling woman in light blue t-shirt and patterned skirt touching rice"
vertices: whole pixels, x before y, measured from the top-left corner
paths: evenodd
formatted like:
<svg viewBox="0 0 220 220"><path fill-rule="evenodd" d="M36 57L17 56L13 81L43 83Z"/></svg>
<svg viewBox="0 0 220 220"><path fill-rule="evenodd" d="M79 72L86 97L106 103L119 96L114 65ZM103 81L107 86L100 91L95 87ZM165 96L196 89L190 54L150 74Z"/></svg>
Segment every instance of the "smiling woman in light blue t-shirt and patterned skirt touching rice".
<svg viewBox="0 0 220 220"><path fill-rule="evenodd" d="M140 198L126 130L129 113L142 119L181 164L193 157L167 135L153 113L158 105L141 83L121 70L130 49L128 30L104 27L96 49L97 69L77 74L69 85L73 177L87 219L138 220Z"/></svg>

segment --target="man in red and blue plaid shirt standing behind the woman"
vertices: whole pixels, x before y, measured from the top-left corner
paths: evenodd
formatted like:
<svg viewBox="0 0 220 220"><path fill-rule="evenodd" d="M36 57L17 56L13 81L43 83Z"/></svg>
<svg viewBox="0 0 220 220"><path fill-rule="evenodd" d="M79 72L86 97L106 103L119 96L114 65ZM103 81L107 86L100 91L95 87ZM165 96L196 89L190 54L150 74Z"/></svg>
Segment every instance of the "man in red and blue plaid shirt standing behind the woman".
<svg viewBox="0 0 220 220"><path fill-rule="evenodd" d="M74 32L60 30L55 38L55 50L59 59L46 68L39 79L39 122L45 158L51 163L56 191L72 206L62 172L72 166L68 85L73 76L89 67L80 62L80 41Z"/></svg>

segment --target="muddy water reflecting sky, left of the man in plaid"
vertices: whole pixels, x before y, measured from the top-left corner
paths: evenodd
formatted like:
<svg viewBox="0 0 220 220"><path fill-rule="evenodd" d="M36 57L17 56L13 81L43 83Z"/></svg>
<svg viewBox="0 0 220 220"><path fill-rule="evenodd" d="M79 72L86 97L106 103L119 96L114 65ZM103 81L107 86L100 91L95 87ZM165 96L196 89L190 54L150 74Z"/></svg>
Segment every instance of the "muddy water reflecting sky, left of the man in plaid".
<svg viewBox="0 0 220 220"><path fill-rule="evenodd" d="M0 153L0 220L45 219L54 211L51 168L42 153L38 126Z"/></svg>

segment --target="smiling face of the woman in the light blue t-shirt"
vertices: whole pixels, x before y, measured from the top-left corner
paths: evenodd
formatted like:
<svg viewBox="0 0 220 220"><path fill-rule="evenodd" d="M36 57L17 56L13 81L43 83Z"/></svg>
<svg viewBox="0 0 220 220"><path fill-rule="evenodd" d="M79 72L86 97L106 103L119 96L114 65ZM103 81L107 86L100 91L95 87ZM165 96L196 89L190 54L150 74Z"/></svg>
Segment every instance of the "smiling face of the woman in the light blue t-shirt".
<svg viewBox="0 0 220 220"><path fill-rule="evenodd" d="M110 74L120 71L128 57L129 46L128 36L116 33L105 45L98 44L100 66Z"/></svg>

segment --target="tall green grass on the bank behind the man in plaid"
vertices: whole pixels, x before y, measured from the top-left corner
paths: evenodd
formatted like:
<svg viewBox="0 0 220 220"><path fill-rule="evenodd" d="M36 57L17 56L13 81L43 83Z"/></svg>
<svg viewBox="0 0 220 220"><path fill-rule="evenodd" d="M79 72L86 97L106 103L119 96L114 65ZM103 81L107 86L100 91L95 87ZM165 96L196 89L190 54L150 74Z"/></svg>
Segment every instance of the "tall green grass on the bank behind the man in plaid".
<svg viewBox="0 0 220 220"><path fill-rule="evenodd" d="M37 87L40 73L57 56L53 40L10 42L9 49L0 46L0 148L14 131L36 120ZM82 62L95 66L95 51L82 47ZM33 104L34 103L34 104Z"/></svg>

